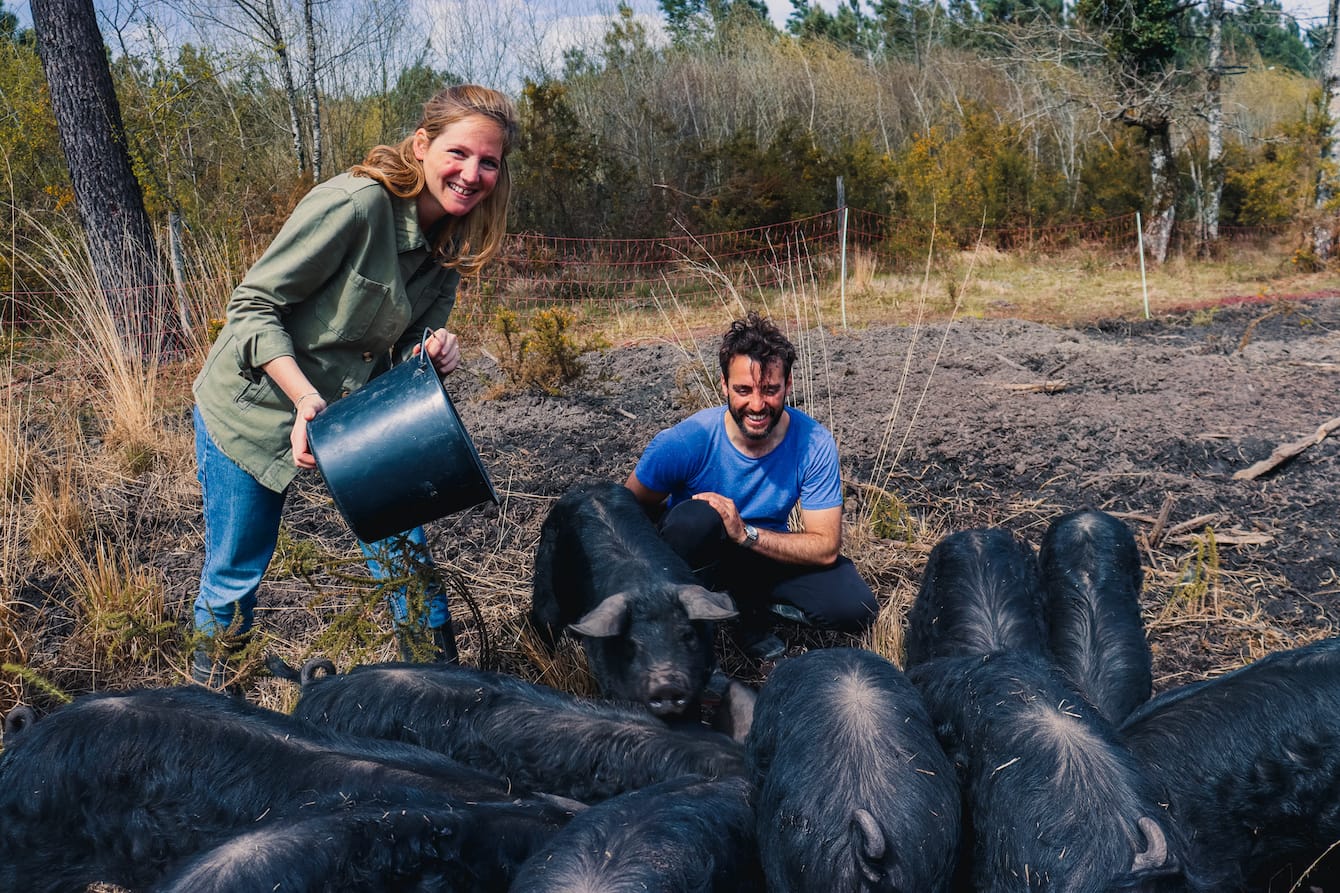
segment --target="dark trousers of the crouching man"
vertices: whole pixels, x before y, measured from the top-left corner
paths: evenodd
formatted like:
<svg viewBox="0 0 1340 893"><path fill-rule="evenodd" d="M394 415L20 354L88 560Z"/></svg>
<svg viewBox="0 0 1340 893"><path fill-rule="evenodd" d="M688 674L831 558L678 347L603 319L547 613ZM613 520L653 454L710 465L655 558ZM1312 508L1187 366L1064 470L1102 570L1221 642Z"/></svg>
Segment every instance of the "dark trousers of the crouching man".
<svg viewBox="0 0 1340 893"><path fill-rule="evenodd" d="M879 603L850 558L828 566L787 564L736 546L709 503L689 499L661 519L661 538L708 589L730 593L742 623L757 621L772 605L791 605L812 626L860 633L875 621Z"/></svg>

